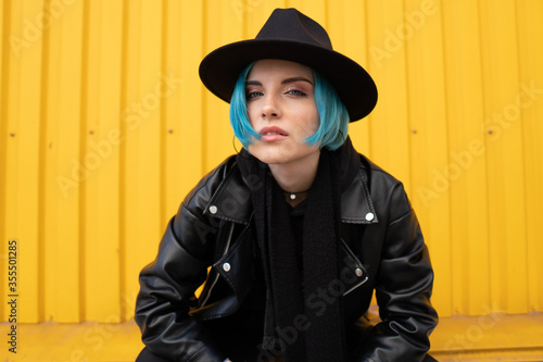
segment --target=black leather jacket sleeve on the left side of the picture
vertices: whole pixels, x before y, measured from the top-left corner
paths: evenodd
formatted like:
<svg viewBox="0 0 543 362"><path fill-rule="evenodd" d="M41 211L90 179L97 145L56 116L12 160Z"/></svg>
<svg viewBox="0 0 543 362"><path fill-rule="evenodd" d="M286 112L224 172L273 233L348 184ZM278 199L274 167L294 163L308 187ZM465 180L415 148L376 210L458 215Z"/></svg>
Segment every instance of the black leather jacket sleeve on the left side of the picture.
<svg viewBox="0 0 543 362"><path fill-rule="evenodd" d="M141 271L135 320L143 344L156 355L222 362L227 355L217 350L205 326L189 315L215 244L214 226L202 216L201 208L192 205L194 198L205 198L201 194L187 197L168 223L155 260Z"/></svg>

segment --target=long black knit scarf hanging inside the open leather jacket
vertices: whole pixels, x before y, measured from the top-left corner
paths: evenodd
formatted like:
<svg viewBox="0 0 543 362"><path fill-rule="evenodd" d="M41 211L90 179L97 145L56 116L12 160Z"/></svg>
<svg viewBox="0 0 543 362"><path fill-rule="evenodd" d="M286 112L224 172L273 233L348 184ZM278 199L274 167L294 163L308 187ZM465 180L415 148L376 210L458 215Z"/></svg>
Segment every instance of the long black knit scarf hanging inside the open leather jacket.
<svg viewBox="0 0 543 362"><path fill-rule="evenodd" d="M359 163L350 139L337 151L320 152L304 215L303 265L296 260L289 207L268 166L245 150L237 162L251 189L266 282L263 349L287 362L346 361L341 296L333 292L333 280L339 278L341 189Z"/></svg>

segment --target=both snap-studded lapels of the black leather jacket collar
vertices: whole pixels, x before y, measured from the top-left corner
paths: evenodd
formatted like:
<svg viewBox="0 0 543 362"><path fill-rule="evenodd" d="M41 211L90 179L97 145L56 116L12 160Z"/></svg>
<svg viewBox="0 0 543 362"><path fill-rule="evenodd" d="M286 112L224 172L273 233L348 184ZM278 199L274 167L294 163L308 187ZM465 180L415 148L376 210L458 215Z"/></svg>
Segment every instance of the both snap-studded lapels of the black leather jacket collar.
<svg viewBox="0 0 543 362"><path fill-rule="evenodd" d="M210 199L204 213L239 224L249 224L253 213L251 192L235 164ZM367 168L361 164L358 174L341 194L341 221L349 224L378 223L369 194Z"/></svg>

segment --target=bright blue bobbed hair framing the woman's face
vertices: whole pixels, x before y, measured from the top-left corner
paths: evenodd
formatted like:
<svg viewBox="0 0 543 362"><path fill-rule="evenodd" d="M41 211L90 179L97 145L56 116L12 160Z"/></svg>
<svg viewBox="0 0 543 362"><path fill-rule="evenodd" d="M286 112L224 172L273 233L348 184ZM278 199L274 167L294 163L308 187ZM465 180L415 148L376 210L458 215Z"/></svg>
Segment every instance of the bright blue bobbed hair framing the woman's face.
<svg viewBox="0 0 543 362"><path fill-rule="evenodd" d="M236 138L247 149L252 138L261 135L254 130L247 113L245 80L255 62L249 64L239 75L230 99L230 125ZM310 145L319 145L329 150L337 150L345 141L349 129L349 112L338 96L333 86L317 72L315 78L315 103L317 104L319 125L315 134L305 141Z"/></svg>

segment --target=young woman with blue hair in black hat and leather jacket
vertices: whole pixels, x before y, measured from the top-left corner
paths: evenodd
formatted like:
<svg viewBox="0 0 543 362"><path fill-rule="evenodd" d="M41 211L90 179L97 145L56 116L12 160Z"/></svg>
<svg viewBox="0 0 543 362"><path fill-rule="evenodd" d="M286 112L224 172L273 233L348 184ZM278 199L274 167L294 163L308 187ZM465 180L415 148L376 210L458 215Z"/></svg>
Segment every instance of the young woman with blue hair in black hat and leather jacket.
<svg viewBox="0 0 543 362"><path fill-rule="evenodd" d="M243 149L187 196L140 274L138 361L432 360L417 219L348 137L377 102L371 77L294 9L210 53L200 76Z"/></svg>

